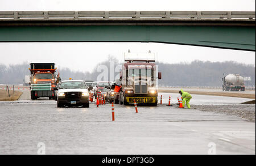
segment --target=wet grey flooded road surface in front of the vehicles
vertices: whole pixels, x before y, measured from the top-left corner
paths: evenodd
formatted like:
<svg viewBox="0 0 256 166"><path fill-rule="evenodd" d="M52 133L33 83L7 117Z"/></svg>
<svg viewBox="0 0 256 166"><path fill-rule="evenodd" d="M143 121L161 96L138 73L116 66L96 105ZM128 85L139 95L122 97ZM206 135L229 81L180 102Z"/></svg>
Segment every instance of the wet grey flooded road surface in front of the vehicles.
<svg viewBox="0 0 256 166"><path fill-rule="evenodd" d="M162 95L167 103L170 94ZM191 107L209 104L201 97L193 95ZM214 100L234 103L229 98ZM212 148L216 154L255 154L255 123L241 118L176 105L138 106L139 113L132 105L114 108L113 122L110 104L57 108L47 99L1 101L0 154L37 154L39 142L46 154L208 154Z"/></svg>

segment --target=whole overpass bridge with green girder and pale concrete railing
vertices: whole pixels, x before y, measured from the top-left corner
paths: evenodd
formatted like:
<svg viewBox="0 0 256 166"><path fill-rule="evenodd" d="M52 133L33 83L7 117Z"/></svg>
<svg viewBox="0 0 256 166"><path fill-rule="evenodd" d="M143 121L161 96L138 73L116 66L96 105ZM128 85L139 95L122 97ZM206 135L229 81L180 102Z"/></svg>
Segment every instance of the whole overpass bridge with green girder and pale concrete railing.
<svg viewBox="0 0 256 166"><path fill-rule="evenodd" d="M255 51L255 12L0 11L0 42L162 42Z"/></svg>

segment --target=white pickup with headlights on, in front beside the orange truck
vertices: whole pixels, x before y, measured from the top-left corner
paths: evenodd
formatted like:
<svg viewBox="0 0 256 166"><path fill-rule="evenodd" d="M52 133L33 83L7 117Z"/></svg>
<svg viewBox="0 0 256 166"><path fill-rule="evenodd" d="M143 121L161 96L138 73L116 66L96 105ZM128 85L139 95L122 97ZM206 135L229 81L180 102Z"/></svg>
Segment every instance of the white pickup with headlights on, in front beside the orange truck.
<svg viewBox="0 0 256 166"><path fill-rule="evenodd" d="M89 108L89 93L83 80L63 80L57 90L57 107L79 106Z"/></svg>

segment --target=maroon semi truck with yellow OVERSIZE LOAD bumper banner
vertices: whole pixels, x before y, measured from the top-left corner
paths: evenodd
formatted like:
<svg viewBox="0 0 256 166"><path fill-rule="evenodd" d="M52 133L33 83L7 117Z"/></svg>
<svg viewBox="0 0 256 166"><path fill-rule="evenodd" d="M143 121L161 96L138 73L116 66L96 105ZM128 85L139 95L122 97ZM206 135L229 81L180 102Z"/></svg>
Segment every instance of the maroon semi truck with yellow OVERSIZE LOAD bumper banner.
<svg viewBox="0 0 256 166"><path fill-rule="evenodd" d="M157 105L158 104L158 73L155 65L155 54L150 51L146 54L124 53L125 62L120 71L121 89L119 104Z"/></svg>

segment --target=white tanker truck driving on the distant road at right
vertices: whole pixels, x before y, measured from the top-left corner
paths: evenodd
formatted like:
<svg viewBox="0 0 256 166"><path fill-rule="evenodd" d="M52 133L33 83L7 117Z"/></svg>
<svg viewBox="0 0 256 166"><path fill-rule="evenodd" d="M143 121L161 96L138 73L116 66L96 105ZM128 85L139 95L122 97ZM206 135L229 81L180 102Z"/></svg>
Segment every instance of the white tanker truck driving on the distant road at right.
<svg viewBox="0 0 256 166"><path fill-rule="evenodd" d="M223 91L245 91L244 79L239 74L228 74L222 78L222 82Z"/></svg>

